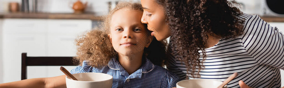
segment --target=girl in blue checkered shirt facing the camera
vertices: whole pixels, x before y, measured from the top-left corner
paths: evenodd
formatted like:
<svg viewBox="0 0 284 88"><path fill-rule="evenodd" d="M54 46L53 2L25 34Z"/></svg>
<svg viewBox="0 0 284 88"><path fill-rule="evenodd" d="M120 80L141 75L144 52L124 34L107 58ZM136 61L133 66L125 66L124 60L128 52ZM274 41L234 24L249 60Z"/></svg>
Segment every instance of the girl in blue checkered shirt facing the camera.
<svg viewBox="0 0 284 88"><path fill-rule="evenodd" d="M93 30L76 40L76 60L71 74L100 72L113 76L112 87L170 88L179 81L163 65L165 43L153 38L141 23L141 4L119 3L104 21L105 31ZM151 32L150 32L151 33ZM150 44L151 43L151 44ZM5 87L66 87L66 75L0 84Z"/></svg>

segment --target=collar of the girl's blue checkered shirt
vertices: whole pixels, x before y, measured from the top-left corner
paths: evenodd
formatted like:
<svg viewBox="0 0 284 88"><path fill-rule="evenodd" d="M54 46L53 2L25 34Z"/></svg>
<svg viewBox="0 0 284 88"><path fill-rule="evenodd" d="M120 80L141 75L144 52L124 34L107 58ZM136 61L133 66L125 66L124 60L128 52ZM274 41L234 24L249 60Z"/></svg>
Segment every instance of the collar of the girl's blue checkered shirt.
<svg viewBox="0 0 284 88"><path fill-rule="evenodd" d="M118 62L118 56L111 58L111 60L108 62L108 67L113 70L121 70L121 68L123 68ZM138 73L148 73L148 72L151 72L154 69L154 67L155 65L150 60L148 60L147 57L145 57L144 64L137 70L137 72Z"/></svg>

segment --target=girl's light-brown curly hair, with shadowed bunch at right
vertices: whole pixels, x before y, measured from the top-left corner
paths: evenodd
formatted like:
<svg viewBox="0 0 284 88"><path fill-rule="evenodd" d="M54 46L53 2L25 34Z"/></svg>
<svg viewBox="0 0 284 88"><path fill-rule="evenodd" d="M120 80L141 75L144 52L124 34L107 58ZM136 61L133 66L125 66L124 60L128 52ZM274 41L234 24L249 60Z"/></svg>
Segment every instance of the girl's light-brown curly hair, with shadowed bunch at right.
<svg viewBox="0 0 284 88"><path fill-rule="evenodd" d="M83 61L87 61L89 66L102 67L106 66L111 58L118 54L109 40L108 33L110 33L110 20L113 13L121 9L137 10L141 11L141 13L143 12L141 4L119 2L116 7L110 11L108 16L104 18L105 20L103 23L101 23L101 28L103 30L91 30L75 40L77 45L77 57L74 58L75 62L82 65ZM153 62L153 64L162 66L166 60L166 44L167 43L165 41L160 42L156 40L156 38L153 38L149 47L144 48L143 55Z"/></svg>

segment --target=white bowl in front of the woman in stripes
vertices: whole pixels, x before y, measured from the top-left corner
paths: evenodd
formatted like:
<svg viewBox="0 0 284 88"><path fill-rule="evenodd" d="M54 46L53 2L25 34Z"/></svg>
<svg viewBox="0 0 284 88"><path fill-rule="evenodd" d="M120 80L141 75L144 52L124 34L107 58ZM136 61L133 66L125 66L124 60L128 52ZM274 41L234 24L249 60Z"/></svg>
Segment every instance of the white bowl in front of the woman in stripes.
<svg viewBox="0 0 284 88"><path fill-rule="evenodd" d="M176 83L176 88L217 88L222 82L209 79L189 79ZM223 88L227 88L225 85Z"/></svg>

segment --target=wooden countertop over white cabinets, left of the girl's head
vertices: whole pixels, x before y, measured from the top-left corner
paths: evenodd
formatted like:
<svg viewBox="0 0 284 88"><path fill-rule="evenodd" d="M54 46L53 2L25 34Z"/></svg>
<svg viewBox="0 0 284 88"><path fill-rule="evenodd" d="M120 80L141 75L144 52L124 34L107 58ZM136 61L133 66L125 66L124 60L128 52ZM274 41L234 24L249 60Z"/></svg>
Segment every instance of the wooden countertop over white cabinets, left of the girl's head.
<svg viewBox="0 0 284 88"><path fill-rule="evenodd" d="M101 16L93 13L73 14L73 13L4 13L0 18L39 18L39 19L90 19L102 20Z"/></svg>

